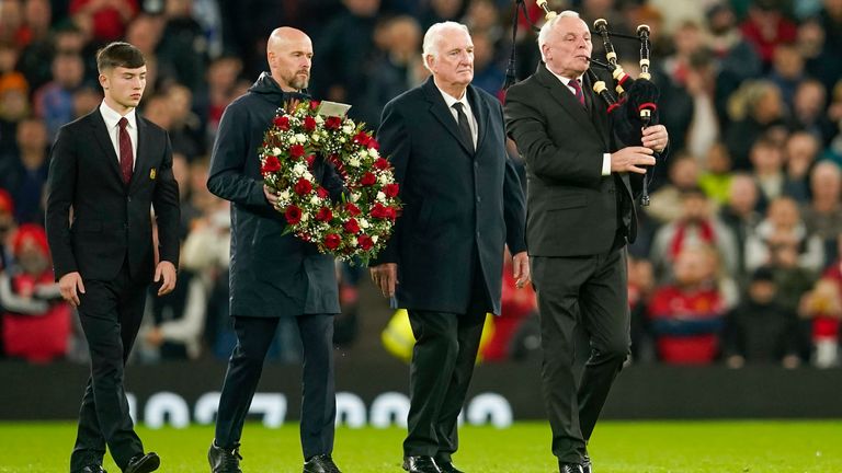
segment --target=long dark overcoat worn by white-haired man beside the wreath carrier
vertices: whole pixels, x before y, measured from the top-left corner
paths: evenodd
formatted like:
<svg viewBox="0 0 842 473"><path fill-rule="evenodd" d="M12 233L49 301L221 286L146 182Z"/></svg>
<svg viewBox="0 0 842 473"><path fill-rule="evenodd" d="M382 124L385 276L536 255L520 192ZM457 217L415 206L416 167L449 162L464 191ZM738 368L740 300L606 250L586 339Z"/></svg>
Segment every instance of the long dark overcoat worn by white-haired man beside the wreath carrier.
<svg viewBox="0 0 842 473"><path fill-rule="evenodd" d="M512 254L525 250L523 192L505 152L502 106L473 85L466 93L476 151L432 78L383 111L377 138L405 207L377 263L398 264L402 308L463 313L476 269L488 309L499 314L504 245Z"/></svg>

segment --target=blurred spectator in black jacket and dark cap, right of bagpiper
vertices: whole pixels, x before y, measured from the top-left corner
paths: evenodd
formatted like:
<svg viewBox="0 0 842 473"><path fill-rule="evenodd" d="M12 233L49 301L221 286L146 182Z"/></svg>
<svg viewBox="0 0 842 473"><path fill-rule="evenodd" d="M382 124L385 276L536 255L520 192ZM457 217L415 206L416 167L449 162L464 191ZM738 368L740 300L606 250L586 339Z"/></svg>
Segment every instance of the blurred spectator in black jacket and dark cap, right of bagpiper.
<svg viewBox="0 0 842 473"><path fill-rule="evenodd" d="M728 314L722 351L729 368L744 365L800 365L799 326L795 312L775 297L774 273L761 267L751 275L747 298Z"/></svg>

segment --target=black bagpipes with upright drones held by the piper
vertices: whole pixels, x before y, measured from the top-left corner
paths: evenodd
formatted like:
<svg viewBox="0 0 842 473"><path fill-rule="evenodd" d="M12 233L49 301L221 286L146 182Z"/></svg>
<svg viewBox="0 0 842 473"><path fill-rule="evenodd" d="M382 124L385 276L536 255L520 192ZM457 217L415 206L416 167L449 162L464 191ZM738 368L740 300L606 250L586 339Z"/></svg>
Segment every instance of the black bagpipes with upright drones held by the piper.
<svg viewBox="0 0 842 473"><path fill-rule="evenodd" d="M536 0L535 3L545 12L546 21L553 20L557 13L547 8L547 0ZM512 33L512 54L507 69L507 80L503 89L514 83L514 42L517 34L517 12L519 7L523 10L524 16L533 28L537 31L524 4L524 0L516 0L514 9L514 22ZM642 130L651 125L658 124L658 99L660 92L658 86L651 81L649 73L651 43L649 39L649 26L641 24L637 27L637 36L630 36L608 31L608 22L599 19L593 22L591 34L598 34L602 37L602 44L605 48L606 62L590 58L590 62L599 66L608 72L614 79L614 91L611 91L601 80L596 72L588 68L587 74L593 86L593 91L602 97L607 105L608 117L611 118L612 129L617 139L626 146L641 145ZM629 77L623 67L617 62L617 54L612 44L612 37L624 39L635 39L640 43L640 74L637 79ZM616 92L616 95L615 95ZM656 161L660 159L660 153L655 152ZM640 205L649 205L649 184L652 180L652 173L647 172L644 175Z"/></svg>

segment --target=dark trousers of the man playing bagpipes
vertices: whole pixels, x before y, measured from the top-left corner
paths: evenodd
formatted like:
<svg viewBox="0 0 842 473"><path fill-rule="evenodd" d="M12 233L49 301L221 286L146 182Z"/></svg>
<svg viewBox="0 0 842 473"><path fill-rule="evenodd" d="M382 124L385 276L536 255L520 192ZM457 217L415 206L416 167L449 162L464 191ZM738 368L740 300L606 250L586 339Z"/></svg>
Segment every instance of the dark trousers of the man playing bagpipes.
<svg viewBox="0 0 842 473"><path fill-rule="evenodd" d="M544 402L553 454L578 463L629 347L626 250L531 261L541 313ZM574 328L582 323L591 355L577 389Z"/></svg>

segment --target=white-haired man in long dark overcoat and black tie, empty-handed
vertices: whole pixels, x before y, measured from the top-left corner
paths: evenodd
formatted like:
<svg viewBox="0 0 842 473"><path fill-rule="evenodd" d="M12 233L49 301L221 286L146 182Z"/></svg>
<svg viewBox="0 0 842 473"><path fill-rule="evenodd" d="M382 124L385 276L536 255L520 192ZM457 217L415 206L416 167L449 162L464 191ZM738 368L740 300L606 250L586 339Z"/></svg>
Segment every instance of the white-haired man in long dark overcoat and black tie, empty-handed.
<svg viewBox="0 0 842 473"><path fill-rule="evenodd" d="M524 203L505 152L503 111L470 85L474 45L465 25L424 36L424 84L383 111L378 139L406 207L372 278L408 309L410 368L403 469L458 472L456 419L465 402L487 312L500 313L504 246L517 285L530 280Z"/></svg>

